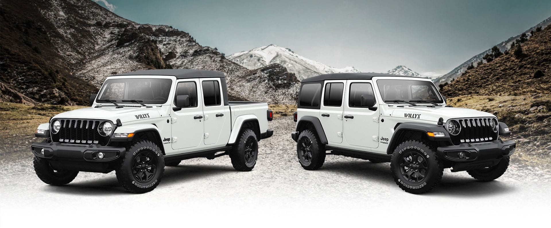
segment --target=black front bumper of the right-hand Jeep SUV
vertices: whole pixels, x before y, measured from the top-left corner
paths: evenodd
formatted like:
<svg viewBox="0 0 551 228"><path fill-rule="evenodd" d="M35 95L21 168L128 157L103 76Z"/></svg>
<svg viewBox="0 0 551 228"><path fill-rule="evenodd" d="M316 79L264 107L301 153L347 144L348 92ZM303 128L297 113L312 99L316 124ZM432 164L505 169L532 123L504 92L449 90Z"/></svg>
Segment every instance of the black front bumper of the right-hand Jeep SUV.
<svg viewBox="0 0 551 228"><path fill-rule="evenodd" d="M498 139L488 143L440 146L436 151L441 159L454 162L452 171L456 172L494 166L502 158L512 155L515 149L513 140Z"/></svg>

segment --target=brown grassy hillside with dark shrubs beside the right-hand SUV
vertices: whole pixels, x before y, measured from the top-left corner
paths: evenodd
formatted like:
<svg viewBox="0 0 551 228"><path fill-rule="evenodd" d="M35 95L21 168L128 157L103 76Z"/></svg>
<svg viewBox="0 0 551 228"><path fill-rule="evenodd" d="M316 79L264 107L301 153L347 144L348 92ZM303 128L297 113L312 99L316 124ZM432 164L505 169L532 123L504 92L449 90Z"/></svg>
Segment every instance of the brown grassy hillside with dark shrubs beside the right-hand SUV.
<svg viewBox="0 0 551 228"><path fill-rule="evenodd" d="M516 48L515 48L516 49ZM514 51L466 72L440 90L452 105L494 113L526 154L551 158L551 26Z"/></svg>

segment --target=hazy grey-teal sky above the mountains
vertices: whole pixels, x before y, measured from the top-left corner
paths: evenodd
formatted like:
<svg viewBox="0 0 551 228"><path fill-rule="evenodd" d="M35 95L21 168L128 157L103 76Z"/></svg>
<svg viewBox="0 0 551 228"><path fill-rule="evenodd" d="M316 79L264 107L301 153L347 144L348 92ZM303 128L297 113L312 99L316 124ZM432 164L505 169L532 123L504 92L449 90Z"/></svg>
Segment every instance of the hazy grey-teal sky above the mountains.
<svg viewBox="0 0 551 228"><path fill-rule="evenodd" d="M189 32L230 55L288 47L332 67L445 74L551 17L551 1L94 0L137 23Z"/></svg>

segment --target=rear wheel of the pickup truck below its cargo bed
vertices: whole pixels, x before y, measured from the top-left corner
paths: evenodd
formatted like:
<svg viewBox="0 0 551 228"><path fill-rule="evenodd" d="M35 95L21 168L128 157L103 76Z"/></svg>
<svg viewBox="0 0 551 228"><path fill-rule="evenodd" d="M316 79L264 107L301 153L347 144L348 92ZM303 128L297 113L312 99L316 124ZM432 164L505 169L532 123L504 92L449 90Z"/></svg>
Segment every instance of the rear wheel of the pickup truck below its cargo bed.
<svg viewBox="0 0 551 228"><path fill-rule="evenodd" d="M258 138L247 128L241 131L237 143L230 150L231 165L237 171L251 171L258 159Z"/></svg>

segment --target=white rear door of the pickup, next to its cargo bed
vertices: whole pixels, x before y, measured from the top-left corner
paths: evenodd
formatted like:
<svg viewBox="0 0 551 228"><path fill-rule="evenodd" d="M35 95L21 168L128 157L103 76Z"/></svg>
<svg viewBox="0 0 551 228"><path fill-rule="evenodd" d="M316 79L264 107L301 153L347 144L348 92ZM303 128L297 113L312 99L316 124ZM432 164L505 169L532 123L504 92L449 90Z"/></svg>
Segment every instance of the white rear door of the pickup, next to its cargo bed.
<svg viewBox="0 0 551 228"><path fill-rule="evenodd" d="M230 137L230 110L224 105L220 86L220 78L201 79L205 145L225 145Z"/></svg>

